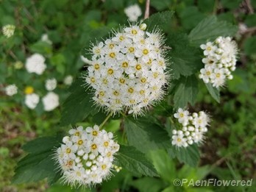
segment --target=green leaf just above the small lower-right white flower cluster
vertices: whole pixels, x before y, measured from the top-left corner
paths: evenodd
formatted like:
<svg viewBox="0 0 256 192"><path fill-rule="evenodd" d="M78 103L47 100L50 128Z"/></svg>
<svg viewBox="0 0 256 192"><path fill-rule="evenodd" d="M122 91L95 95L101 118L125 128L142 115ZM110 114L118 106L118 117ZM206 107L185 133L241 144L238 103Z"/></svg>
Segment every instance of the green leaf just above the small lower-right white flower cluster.
<svg viewBox="0 0 256 192"><path fill-rule="evenodd" d="M194 75L182 77L174 93L174 109L183 108L188 102L195 104L198 91L198 80Z"/></svg>

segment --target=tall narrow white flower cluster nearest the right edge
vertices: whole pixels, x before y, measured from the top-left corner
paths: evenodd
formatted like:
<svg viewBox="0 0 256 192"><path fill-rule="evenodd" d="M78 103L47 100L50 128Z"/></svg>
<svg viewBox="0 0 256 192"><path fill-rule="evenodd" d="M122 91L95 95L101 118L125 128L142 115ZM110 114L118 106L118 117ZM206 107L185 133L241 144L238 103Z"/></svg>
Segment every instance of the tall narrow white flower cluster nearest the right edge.
<svg viewBox="0 0 256 192"><path fill-rule="evenodd" d="M202 44L204 50L205 68L200 70L199 78L205 83L212 83L213 87L221 87L226 79L232 79L231 71L235 71L238 46L230 37L218 37L214 42Z"/></svg>

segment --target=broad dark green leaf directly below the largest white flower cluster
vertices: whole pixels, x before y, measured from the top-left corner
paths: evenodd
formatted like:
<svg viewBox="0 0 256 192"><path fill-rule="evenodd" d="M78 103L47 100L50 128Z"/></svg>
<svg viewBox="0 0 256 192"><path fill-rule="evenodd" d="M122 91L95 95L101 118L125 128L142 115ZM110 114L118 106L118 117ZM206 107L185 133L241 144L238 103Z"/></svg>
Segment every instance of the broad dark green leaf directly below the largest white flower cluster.
<svg viewBox="0 0 256 192"><path fill-rule="evenodd" d="M135 146L141 152L146 153L154 149L168 149L171 147L168 133L156 123L152 116L141 117L136 120L127 117L124 119L124 130L129 145Z"/></svg>

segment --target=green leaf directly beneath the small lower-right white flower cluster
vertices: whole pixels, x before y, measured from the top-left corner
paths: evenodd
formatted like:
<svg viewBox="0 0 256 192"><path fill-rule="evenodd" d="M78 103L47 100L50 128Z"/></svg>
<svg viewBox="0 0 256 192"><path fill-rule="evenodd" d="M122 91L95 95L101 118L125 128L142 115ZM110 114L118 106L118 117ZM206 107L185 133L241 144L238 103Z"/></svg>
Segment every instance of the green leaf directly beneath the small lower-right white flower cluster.
<svg viewBox="0 0 256 192"><path fill-rule="evenodd" d="M171 149L168 149L168 154L172 158L177 157L180 162L183 162L193 167L197 165L200 159L199 149L196 144L188 147L179 148L172 146Z"/></svg>

